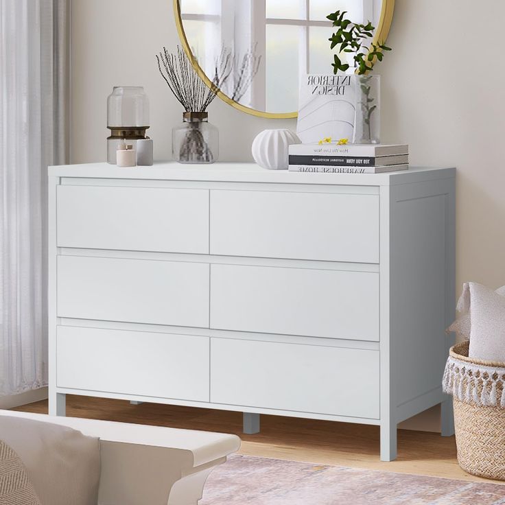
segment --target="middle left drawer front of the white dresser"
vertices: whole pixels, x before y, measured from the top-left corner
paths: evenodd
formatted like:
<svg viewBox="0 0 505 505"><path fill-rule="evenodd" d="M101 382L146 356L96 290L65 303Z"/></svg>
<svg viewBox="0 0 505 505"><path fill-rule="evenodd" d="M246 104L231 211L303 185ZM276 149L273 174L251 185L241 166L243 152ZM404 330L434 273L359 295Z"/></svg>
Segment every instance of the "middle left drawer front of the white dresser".
<svg viewBox="0 0 505 505"><path fill-rule="evenodd" d="M58 316L209 327L209 265L58 257Z"/></svg>

